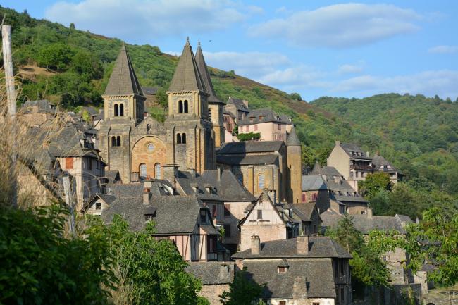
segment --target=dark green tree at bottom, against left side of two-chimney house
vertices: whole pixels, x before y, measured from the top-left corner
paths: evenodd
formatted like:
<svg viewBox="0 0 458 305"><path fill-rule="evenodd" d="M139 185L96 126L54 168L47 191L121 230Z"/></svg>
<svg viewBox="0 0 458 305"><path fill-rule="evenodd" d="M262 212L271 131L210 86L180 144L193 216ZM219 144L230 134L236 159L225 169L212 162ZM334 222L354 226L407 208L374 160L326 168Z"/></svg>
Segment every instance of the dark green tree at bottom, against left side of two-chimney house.
<svg viewBox="0 0 458 305"><path fill-rule="evenodd" d="M233 282L229 284L229 291L224 291L219 296L223 305L252 305L259 300L264 284L257 284L248 275L247 268L235 273Z"/></svg>

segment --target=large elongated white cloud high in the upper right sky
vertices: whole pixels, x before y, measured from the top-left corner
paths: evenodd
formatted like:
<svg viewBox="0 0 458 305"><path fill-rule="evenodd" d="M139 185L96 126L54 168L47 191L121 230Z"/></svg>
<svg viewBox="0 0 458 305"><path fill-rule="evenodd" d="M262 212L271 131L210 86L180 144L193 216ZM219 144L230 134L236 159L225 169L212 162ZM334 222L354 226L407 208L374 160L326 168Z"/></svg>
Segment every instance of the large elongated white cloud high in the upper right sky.
<svg viewBox="0 0 458 305"><path fill-rule="evenodd" d="M254 37L285 39L297 46L352 47L419 29L421 15L388 4L335 4L254 25Z"/></svg>

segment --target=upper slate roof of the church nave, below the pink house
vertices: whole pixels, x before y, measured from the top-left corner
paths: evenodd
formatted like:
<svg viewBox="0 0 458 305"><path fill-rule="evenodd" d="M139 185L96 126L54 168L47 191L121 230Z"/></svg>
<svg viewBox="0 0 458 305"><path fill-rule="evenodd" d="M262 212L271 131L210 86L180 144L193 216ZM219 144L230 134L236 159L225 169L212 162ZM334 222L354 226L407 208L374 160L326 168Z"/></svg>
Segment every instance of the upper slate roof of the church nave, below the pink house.
<svg viewBox="0 0 458 305"><path fill-rule="evenodd" d="M281 149L283 141L244 141L223 143L217 154L246 154L274 152Z"/></svg>

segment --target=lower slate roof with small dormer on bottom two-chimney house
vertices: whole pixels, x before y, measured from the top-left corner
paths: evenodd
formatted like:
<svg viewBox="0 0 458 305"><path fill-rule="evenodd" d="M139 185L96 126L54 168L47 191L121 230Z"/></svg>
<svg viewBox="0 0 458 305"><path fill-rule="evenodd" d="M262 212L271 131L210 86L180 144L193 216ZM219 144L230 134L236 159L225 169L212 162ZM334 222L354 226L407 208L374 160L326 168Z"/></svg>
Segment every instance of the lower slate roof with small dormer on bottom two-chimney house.
<svg viewBox="0 0 458 305"><path fill-rule="evenodd" d="M281 260L244 261L247 277L259 284L266 283L263 299L292 299L292 289L298 276L307 281L309 298L335 298L333 264L330 259L287 259L286 273L278 273Z"/></svg>

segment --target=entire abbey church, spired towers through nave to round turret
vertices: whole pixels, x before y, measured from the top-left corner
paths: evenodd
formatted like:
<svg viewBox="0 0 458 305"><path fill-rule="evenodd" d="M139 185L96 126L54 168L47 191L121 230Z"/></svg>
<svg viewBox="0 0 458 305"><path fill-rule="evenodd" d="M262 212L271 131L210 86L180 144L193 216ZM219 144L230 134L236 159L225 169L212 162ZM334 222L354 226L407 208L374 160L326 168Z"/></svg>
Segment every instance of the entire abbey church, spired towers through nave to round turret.
<svg viewBox="0 0 458 305"><path fill-rule="evenodd" d="M146 98L122 46L103 95L99 150L107 171L118 171L120 180L129 183L163 179L176 170L203 174L221 166L256 197L266 189L278 201L299 201L301 151L294 127L285 141L225 143L225 103L216 97L200 45L194 56L187 40L167 94L168 116L159 123L145 110Z"/></svg>

